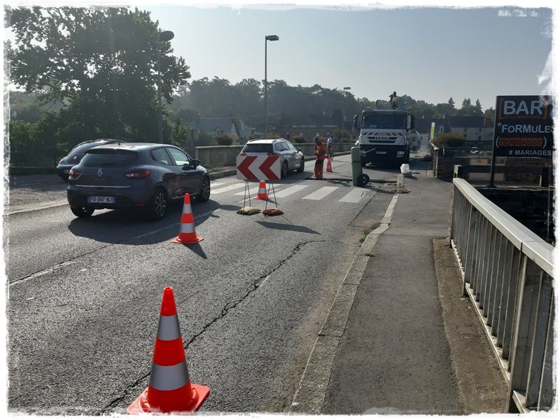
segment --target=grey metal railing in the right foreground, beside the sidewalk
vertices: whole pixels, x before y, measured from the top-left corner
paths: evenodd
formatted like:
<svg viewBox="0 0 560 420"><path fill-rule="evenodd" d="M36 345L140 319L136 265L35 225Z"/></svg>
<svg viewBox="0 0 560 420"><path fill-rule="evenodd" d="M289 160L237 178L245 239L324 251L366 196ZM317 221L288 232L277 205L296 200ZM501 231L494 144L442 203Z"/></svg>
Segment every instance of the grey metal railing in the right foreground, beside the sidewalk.
<svg viewBox="0 0 560 420"><path fill-rule="evenodd" d="M554 403L554 246L453 180L451 246L509 387L507 409Z"/></svg>

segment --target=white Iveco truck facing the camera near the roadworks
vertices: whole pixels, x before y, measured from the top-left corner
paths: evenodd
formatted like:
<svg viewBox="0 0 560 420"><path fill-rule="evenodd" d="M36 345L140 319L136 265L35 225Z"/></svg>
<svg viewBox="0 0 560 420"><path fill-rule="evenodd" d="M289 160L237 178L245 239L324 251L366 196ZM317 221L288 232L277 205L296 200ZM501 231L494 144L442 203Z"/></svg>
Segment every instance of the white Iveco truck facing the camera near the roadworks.
<svg viewBox="0 0 560 420"><path fill-rule="evenodd" d="M414 116L406 109L365 109L354 116L362 166L408 163L415 143Z"/></svg>

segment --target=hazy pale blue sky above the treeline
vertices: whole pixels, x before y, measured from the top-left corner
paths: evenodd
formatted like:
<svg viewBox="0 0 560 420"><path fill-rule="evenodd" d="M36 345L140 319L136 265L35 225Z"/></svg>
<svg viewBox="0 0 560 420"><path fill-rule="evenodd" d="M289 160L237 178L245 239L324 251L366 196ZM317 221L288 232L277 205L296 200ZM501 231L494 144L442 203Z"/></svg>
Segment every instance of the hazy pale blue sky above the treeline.
<svg viewBox="0 0 560 420"><path fill-rule="evenodd" d="M498 94L552 93L539 84L552 48L549 8L138 7L174 31L191 80L263 80L265 35L275 34L268 80L288 85L350 86L369 99L396 90L433 104L451 96L457 106L479 98L483 109Z"/></svg>

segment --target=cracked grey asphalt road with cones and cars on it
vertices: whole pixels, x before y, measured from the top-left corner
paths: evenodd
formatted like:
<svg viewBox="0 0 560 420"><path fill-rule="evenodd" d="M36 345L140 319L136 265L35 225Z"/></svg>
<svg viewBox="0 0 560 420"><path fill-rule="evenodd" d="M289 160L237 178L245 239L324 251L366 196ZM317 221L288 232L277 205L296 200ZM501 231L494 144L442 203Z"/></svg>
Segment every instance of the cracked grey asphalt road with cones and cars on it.
<svg viewBox="0 0 560 420"><path fill-rule="evenodd" d="M157 223L123 211L78 219L59 205L58 180L28 186L38 191L32 202L10 190L8 409L125 412L148 384L162 289L172 286L190 377L211 388L202 411L286 412L398 174L365 169L372 183L355 188L309 179L312 165L275 184L285 212L275 218L237 215L243 185L228 188L241 181L213 182L209 202L193 203L205 239L190 247L170 241L181 203ZM332 167L331 179L351 178L349 155Z"/></svg>

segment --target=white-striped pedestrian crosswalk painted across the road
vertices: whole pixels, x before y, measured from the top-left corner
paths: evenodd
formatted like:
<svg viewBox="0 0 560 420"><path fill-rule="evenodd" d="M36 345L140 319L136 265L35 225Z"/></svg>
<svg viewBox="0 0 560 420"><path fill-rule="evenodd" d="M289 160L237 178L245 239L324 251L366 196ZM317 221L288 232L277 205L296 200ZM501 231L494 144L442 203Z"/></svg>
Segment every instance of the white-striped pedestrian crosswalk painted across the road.
<svg viewBox="0 0 560 420"><path fill-rule="evenodd" d="M216 188L218 187L218 188ZM246 195L246 184L234 180L213 182L211 183L211 197L216 195L231 195L244 197ZM253 197L258 193L258 184L250 183L248 189L248 197ZM267 183L267 193L269 197L273 196L272 188L269 189ZM325 186L325 183L310 181L309 183L296 184L274 184L274 196L276 199L292 197L298 200L324 200L337 201L341 203L358 203L361 200L367 200L374 195L374 191L365 188L353 187L351 184L342 184L340 186Z"/></svg>

